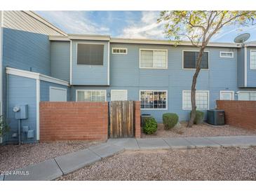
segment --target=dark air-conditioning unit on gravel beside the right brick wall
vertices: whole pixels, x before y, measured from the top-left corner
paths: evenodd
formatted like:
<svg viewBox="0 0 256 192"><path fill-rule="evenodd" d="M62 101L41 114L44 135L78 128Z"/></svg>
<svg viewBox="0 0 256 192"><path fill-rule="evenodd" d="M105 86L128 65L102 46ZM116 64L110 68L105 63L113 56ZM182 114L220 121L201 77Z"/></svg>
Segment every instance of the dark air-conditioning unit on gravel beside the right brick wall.
<svg viewBox="0 0 256 192"><path fill-rule="evenodd" d="M225 125L224 110L218 110L218 109L208 110L207 122L211 125Z"/></svg>

